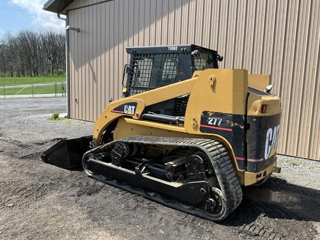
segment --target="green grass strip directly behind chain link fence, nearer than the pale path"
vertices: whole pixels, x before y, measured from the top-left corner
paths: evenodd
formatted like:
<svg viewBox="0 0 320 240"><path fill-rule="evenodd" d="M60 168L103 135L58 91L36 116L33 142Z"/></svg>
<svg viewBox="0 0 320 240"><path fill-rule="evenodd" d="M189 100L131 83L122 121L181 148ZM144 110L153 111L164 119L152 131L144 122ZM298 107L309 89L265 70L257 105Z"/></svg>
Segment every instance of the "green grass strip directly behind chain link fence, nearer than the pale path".
<svg viewBox="0 0 320 240"><path fill-rule="evenodd" d="M58 95L61 95L62 83L56 83L56 92ZM63 82L63 86L66 89L65 82ZM47 84L41 86L33 86L33 94L44 94L44 93L54 93L55 86L54 84ZM32 87L31 84L27 87L12 87L12 88L5 88L5 95L20 95L20 94L32 94ZM0 95L4 95L3 87L0 85Z"/></svg>

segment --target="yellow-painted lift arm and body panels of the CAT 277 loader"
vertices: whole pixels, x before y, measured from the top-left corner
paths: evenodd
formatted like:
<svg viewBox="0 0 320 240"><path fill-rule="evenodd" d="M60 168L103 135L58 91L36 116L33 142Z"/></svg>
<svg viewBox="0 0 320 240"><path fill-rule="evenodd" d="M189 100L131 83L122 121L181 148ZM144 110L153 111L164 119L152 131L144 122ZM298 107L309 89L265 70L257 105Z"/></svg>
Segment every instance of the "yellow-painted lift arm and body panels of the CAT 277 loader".
<svg viewBox="0 0 320 240"><path fill-rule="evenodd" d="M97 130L93 132L93 139L96 139L96 144L99 145L101 134L116 119L118 119L118 122L114 129L113 139L131 135L214 139L224 144L228 149L240 183L245 185L252 184L259 180L255 178L258 173L244 172L238 168L231 144L220 135L199 131L200 117L203 111L233 114L247 113L248 115L271 115L281 111L280 98L273 95L259 96L249 94L246 109L248 78L250 81L255 79L253 84L256 87L260 87L260 89L262 85L268 83L267 80L269 81L266 75L251 75L248 77L247 71L244 69L205 69L203 71L195 71L190 79L112 101L96 120L94 129ZM261 85L257 85L257 82ZM190 93L190 96L184 124L164 124L141 118L145 106L188 93ZM116 106L132 101L137 102L134 115L111 112ZM264 114L260 113L262 104L267 104L267 112ZM272 167L270 166L266 169L267 173L272 171Z"/></svg>

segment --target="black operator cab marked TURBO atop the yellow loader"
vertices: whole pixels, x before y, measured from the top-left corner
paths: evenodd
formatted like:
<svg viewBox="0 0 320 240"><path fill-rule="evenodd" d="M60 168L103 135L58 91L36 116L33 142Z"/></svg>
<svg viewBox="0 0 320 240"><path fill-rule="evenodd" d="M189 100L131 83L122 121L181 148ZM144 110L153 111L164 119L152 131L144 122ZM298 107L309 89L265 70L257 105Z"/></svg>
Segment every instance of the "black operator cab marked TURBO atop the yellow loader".
<svg viewBox="0 0 320 240"><path fill-rule="evenodd" d="M126 52L130 63L123 71L124 97L189 79L195 70L218 68L223 59L217 51L193 44L133 46L126 47Z"/></svg>

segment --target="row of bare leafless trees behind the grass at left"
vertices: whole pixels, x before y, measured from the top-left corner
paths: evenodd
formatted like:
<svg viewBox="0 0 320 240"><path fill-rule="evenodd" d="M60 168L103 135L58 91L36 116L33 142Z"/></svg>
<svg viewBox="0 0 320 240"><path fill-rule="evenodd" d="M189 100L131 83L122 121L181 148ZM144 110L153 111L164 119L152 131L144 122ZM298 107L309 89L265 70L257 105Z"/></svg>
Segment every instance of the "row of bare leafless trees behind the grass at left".
<svg viewBox="0 0 320 240"><path fill-rule="evenodd" d="M65 72L65 34L21 30L0 40L0 76L59 75Z"/></svg>

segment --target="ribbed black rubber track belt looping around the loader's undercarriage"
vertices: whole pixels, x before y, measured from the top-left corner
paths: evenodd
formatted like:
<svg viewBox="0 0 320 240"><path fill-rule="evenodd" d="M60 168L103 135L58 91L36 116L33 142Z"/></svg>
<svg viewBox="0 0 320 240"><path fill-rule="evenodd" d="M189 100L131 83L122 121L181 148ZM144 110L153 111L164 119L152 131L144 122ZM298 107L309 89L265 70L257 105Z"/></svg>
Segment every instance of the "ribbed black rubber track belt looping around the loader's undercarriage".
<svg viewBox="0 0 320 240"><path fill-rule="evenodd" d="M222 191L223 197L226 202L226 211L225 213L219 217L215 218L207 214L200 208L185 206L180 204L177 201L168 202L159 194L149 194L144 190L135 189L125 184L118 184L118 182L114 180L108 180L103 175L92 174L89 169L86 168L86 156L89 153L99 153L106 150L111 149L115 143L117 142L128 142L128 143L140 143L140 144L163 144L163 145L174 145L174 146L188 146L188 147L196 147L200 150L204 151L209 157L211 164L214 168L215 174L217 176L217 180ZM170 207L203 217L208 220L220 221L223 220L226 216L228 216L241 202L242 200L242 190L238 181L238 177L236 176L234 166L232 164L232 160L227 149L218 141L211 139L203 139L203 138L185 138L185 137L163 137L163 136L146 136L146 135L135 135L129 136L125 138L121 138L118 140L114 140L112 142L106 143L104 145L98 146L87 151L82 158L82 165L85 172L98 180L106 182L110 185L128 190L130 192L142 195L146 198L155 200L164 205L168 205Z"/></svg>

